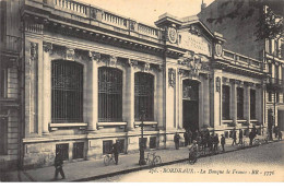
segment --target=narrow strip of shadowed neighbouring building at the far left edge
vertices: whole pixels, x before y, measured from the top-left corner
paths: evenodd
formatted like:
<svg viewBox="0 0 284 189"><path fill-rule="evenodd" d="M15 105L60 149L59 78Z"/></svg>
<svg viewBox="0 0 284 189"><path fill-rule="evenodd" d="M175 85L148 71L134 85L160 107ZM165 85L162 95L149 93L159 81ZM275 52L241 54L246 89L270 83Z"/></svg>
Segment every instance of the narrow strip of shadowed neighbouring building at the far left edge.
<svg viewBox="0 0 284 189"><path fill-rule="evenodd" d="M0 1L0 170L21 160L21 32L19 1Z"/></svg>

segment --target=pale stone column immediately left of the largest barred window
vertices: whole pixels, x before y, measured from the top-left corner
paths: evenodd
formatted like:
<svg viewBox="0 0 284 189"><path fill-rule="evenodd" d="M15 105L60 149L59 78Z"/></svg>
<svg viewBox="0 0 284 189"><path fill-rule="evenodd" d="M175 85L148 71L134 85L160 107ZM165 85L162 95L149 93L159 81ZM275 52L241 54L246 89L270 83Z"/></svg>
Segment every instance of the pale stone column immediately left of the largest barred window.
<svg viewBox="0 0 284 189"><path fill-rule="evenodd" d="M43 134L49 134L48 126L51 122L51 61L52 45L44 43L44 74L43 74Z"/></svg>

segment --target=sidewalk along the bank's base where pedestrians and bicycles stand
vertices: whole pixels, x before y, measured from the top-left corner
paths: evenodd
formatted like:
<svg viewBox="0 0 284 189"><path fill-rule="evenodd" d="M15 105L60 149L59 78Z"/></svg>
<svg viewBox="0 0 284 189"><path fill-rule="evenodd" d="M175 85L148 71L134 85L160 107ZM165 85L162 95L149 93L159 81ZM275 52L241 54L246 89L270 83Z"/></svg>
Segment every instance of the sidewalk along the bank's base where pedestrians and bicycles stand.
<svg viewBox="0 0 284 189"><path fill-rule="evenodd" d="M248 142L248 140L246 139ZM240 147L232 146L232 140L226 140L225 153L238 151ZM248 146L251 147L251 146ZM147 151L146 151L147 152ZM146 156L145 152L145 156ZM179 150L166 149L156 150L156 155L162 158L162 165L169 165L174 163L185 162L188 158L188 147L180 147ZM221 153L222 154L222 153ZM204 156L204 155L202 155ZM200 157L202 157L200 156ZM206 156L206 155L205 155ZM118 165L110 164L104 165L104 160L83 161L76 163L64 164L63 170L67 179L54 180L55 167L43 167L36 169L8 172L2 174L2 181L87 181L104 177L109 177L118 174L125 174L135 172L144 168L149 168L147 165L140 166L139 153L123 154L119 156ZM59 178L61 176L59 175Z"/></svg>

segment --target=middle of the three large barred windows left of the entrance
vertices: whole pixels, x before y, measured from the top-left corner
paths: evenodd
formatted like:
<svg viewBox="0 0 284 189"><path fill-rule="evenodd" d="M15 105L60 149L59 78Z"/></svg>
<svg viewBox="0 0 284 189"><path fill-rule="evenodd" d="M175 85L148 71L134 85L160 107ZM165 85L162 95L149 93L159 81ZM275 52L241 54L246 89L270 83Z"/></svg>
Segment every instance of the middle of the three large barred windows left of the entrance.
<svg viewBox="0 0 284 189"><path fill-rule="evenodd" d="M122 71L98 69L98 121L122 121Z"/></svg>

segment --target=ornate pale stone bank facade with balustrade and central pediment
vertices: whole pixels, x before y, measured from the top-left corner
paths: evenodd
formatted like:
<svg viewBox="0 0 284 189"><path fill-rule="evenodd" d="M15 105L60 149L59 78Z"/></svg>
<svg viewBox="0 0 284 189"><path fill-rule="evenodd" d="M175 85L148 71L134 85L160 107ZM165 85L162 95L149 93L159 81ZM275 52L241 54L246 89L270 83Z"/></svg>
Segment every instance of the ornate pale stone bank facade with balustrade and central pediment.
<svg viewBox="0 0 284 189"><path fill-rule="evenodd" d="M71 0L26 0L23 27L25 167L139 151L174 134L263 123L264 66L223 49L197 16L156 26ZM143 115L142 115L143 113Z"/></svg>

